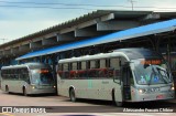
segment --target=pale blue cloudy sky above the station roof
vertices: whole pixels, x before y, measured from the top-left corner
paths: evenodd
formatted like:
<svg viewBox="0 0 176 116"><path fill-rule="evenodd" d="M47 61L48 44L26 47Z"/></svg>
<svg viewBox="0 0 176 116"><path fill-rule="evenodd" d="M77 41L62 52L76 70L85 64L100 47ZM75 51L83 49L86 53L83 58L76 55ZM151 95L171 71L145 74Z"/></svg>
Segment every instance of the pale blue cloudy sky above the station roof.
<svg viewBox="0 0 176 116"><path fill-rule="evenodd" d="M0 44L96 10L132 10L132 4L133 10L176 12L176 0L0 0Z"/></svg>

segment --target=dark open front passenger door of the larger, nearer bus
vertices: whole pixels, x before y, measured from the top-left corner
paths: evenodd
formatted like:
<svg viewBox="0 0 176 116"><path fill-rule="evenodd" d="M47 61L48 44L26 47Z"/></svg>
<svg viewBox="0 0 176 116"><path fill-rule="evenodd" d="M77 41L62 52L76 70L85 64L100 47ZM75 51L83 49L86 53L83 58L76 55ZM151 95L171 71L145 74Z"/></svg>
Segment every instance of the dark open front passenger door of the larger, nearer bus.
<svg viewBox="0 0 176 116"><path fill-rule="evenodd" d="M124 64L121 71L123 101L131 99L131 89L130 89L131 78L132 78L132 73L131 73L130 66L128 64Z"/></svg>

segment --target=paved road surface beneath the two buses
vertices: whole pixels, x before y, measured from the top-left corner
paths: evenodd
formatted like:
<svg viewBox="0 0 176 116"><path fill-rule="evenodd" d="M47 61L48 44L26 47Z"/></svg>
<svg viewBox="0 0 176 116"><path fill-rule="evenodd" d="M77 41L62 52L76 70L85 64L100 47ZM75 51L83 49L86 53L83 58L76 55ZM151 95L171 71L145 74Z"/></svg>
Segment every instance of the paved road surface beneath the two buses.
<svg viewBox="0 0 176 116"><path fill-rule="evenodd" d="M62 96L37 95L25 97L20 94L7 94L0 91L0 106L13 106L13 110L15 107L16 112L16 114L1 113L0 116L117 116L117 114L122 116L175 116L175 113L155 114L154 112L176 112L176 99L168 102L127 103L123 107L116 107L111 102L105 101L79 99L76 103L72 103L69 98ZM28 109L30 112L31 109L38 109L40 112L41 109L42 113L20 114L18 113L20 108L23 108L22 112L28 112ZM138 110L138 113L135 113L135 110ZM141 110L141 113L139 113L139 110ZM47 114L43 112L47 112Z"/></svg>

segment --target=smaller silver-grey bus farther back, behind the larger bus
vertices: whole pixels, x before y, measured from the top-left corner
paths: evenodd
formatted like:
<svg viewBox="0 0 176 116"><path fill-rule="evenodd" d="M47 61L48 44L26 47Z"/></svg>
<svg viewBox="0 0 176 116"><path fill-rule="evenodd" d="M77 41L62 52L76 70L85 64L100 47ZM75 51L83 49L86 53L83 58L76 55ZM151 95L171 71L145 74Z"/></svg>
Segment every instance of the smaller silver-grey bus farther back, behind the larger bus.
<svg viewBox="0 0 176 116"><path fill-rule="evenodd" d="M7 93L22 93L26 96L56 92L52 68L46 64L25 63L2 66L1 77L1 89Z"/></svg>

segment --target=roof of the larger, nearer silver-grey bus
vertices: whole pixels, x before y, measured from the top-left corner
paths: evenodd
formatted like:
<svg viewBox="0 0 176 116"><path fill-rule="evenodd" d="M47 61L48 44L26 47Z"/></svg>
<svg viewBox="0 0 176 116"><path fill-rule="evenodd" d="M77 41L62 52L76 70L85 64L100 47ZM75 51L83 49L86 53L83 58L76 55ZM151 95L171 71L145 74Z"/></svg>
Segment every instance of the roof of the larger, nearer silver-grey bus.
<svg viewBox="0 0 176 116"><path fill-rule="evenodd" d="M95 55L85 55L79 57L70 57L70 59L64 59L59 60L59 63L66 63L66 62L76 62L76 61L89 61L89 60L97 60L97 59L106 59L106 57L116 57L116 56L123 56L128 61L130 60L136 60L136 59L158 59L162 55L158 53L151 51L148 49L119 49L114 50L111 53L99 53Z"/></svg>

